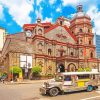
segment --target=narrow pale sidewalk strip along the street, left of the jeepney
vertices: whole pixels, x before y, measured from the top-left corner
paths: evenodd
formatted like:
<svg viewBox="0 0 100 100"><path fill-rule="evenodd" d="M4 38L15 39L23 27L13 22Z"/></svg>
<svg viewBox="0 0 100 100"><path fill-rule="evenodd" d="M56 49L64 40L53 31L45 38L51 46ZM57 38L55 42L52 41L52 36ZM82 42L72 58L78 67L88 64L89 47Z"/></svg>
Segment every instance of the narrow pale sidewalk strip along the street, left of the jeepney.
<svg viewBox="0 0 100 100"><path fill-rule="evenodd" d="M42 82L45 82L47 80L23 80L23 81L17 81L17 82L6 82L4 84L6 85L14 85L14 84L33 84L33 83L42 83Z"/></svg>

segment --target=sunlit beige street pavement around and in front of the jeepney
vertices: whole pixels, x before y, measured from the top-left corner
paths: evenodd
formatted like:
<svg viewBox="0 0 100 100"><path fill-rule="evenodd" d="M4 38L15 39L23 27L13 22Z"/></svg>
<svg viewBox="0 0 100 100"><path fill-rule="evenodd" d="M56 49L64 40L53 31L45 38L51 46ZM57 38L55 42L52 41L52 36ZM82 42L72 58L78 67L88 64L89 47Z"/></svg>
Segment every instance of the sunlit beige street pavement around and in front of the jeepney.
<svg viewBox="0 0 100 100"><path fill-rule="evenodd" d="M92 92L73 92L56 97L42 96L39 88L45 80L0 83L0 100L100 100L100 87Z"/></svg>

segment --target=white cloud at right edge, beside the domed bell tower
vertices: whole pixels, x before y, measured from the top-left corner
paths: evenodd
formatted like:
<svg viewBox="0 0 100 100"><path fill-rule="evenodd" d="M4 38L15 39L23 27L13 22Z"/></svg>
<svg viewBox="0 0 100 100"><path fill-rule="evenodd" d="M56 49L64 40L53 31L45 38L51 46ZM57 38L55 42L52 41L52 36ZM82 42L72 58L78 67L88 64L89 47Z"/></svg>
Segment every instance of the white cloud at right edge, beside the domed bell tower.
<svg viewBox="0 0 100 100"><path fill-rule="evenodd" d="M100 35L100 11L96 6L90 7L87 14L91 17L94 22L93 32Z"/></svg>

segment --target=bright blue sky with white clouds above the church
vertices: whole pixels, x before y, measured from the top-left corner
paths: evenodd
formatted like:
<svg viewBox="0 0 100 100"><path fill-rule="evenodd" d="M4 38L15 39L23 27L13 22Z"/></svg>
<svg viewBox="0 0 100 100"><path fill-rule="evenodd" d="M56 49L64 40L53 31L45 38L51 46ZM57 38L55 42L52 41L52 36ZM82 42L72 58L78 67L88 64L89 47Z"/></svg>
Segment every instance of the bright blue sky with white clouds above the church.
<svg viewBox="0 0 100 100"><path fill-rule="evenodd" d="M91 17L93 32L100 34L99 0L0 0L0 26L14 34L23 31L24 24L36 23L37 17L52 23L59 16L72 18L78 4Z"/></svg>

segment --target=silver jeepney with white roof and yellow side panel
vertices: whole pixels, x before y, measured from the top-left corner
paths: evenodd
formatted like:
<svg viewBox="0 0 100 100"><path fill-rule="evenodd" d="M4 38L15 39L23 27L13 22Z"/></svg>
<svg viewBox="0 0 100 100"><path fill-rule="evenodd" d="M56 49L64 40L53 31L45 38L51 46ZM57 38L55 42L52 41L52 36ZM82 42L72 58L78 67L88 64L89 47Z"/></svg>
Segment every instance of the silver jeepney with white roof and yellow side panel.
<svg viewBox="0 0 100 100"><path fill-rule="evenodd" d="M44 82L40 88L41 94L57 96L59 93L80 90L92 91L100 85L99 72L64 72L54 79Z"/></svg>

